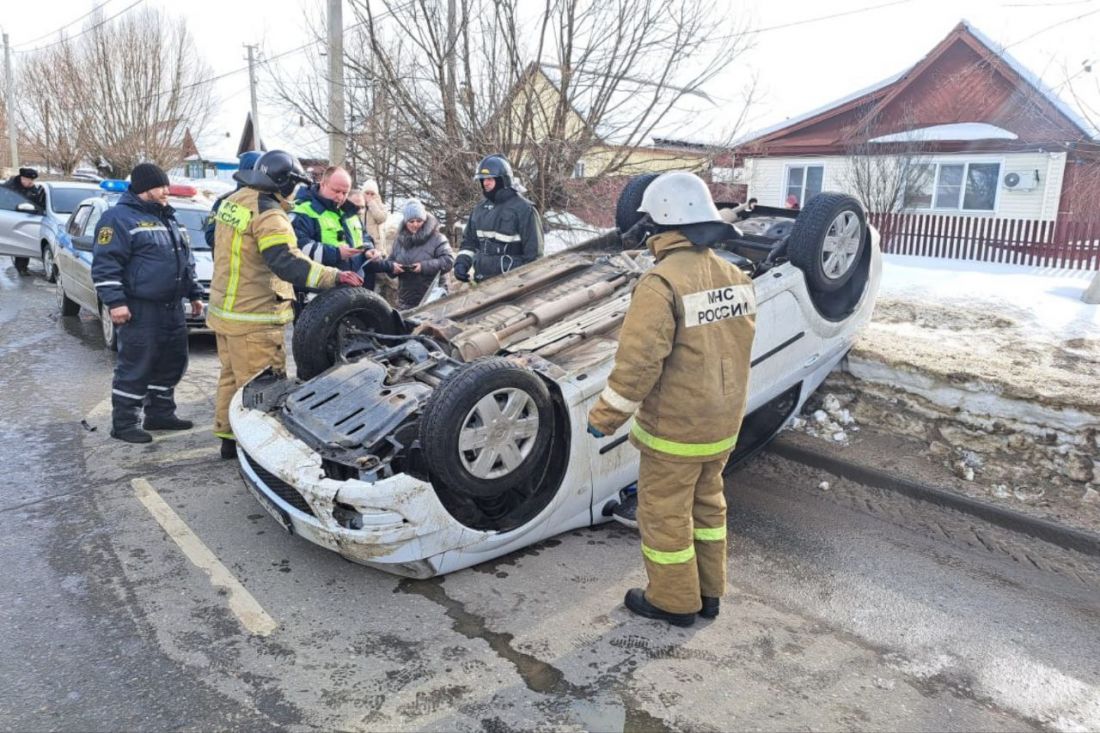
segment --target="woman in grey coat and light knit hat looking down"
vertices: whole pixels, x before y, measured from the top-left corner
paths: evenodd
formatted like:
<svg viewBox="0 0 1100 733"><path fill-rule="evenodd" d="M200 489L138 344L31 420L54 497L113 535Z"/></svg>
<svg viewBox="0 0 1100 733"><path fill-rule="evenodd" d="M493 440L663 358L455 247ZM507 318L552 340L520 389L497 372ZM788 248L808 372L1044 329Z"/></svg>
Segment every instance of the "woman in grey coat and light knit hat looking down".
<svg viewBox="0 0 1100 733"><path fill-rule="evenodd" d="M454 266L454 252L439 231L439 220L424 204L409 201L402 217L389 259L397 276L397 307L404 310L420 305L437 274L446 287L443 276Z"/></svg>

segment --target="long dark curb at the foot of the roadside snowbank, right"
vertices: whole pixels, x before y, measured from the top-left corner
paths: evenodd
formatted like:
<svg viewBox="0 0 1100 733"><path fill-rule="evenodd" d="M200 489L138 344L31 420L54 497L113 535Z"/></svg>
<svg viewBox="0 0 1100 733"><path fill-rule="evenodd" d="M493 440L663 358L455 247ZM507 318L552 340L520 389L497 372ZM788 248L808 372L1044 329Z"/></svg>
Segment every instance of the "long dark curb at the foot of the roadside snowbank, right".
<svg viewBox="0 0 1100 733"><path fill-rule="evenodd" d="M1100 557L1100 535L1084 529L1067 527L1049 519L1042 519L1015 510L981 502L946 489L926 486L878 469L850 463L825 452L795 446L782 438L772 441L767 450L780 458L828 471L834 475L865 486L893 491L911 499L956 510L999 527L1028 535L1068 550Z"/></svg>

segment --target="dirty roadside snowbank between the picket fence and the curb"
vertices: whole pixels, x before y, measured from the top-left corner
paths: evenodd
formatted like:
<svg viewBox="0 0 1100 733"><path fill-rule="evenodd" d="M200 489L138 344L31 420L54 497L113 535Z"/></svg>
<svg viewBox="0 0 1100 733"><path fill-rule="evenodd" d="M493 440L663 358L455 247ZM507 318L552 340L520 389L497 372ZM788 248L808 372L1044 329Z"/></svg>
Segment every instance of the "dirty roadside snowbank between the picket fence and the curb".
<svg viewBox="0 0 1100 733"><path fill-rule="evenodd" d="M915 439L966 493L1100 530L1093 275L884 256L871 324L792 427Z"/></svg>

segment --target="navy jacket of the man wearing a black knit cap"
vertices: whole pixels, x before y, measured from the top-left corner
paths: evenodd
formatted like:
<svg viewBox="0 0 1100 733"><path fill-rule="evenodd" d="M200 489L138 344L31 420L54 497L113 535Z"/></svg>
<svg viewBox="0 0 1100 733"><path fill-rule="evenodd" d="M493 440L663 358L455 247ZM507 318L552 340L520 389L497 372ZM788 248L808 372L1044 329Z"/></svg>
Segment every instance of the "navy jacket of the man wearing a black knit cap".
<svg viewBox="0 0 1100 733"><path fill-rule="evenodd" d="M176 221L175 209L143 201L129 190L96 227L91 282L110 307L133 298L202 298L187 230Z"/></svg>

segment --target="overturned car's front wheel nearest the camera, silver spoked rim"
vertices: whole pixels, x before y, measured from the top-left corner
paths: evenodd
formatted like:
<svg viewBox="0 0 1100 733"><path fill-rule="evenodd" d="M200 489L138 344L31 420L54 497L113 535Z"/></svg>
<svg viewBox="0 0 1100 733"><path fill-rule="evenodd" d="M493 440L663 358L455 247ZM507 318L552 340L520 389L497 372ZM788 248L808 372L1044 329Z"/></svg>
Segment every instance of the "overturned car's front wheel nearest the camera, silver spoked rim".
<svg viewBox="0 0 1100 733"><path fill-rule="evenodd" d="M432 392L420 416L420 448L447 491L492 500L542 477L553 428L546 383L490 357L463 364Z"/></svg>

